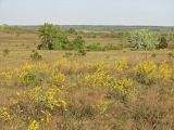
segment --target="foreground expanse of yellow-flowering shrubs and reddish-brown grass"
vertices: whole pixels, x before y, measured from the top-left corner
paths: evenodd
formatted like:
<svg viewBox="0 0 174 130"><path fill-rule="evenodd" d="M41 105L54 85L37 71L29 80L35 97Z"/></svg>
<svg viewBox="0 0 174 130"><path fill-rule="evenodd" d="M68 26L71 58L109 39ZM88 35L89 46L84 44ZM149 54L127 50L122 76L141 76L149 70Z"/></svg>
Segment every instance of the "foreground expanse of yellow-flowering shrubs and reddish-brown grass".
<svg viewBox="0 0 174 130"><path fill-rule="evenodd" d="M1 106L4 129L173 129L174 67L165 62L61 58L3 69L0 77L18 88Z"/></svg>

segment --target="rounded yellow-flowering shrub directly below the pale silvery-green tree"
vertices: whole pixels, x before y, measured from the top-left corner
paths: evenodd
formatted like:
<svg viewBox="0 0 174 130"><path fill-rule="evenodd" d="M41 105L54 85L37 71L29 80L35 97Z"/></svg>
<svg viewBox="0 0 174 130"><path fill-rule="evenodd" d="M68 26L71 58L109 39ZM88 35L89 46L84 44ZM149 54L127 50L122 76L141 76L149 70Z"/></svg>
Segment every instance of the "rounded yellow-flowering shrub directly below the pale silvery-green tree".
<svg viewBox="0 0 174 130"><path fill-rule="evenodd" d="M137 81L151 84L159 78L158 66L153 61L140 62L135 66L134 75Z"/></svg>

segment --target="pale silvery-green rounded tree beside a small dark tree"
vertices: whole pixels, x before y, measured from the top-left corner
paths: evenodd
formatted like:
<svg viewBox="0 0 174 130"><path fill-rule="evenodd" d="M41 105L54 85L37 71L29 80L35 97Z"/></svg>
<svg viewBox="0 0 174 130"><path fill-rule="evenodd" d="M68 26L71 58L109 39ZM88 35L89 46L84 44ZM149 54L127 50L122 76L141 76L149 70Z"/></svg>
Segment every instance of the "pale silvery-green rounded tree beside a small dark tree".
<svg viewBox="0 0 174 130"><path fill-rule="evenodd" d="M130 32L130 48L134 50L154 50L157 44L156 35L141 29Z"/></svg>

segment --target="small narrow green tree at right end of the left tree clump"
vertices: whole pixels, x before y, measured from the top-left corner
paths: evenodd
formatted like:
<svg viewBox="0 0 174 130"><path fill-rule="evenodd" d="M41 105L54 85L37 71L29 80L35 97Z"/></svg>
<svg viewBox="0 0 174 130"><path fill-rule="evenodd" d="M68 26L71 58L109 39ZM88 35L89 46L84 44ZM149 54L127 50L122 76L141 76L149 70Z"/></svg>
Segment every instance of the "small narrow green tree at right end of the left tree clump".
<svg viewBox="0 0 174 130"><path fill-rule="evenodd" d="M86 55L85 40L82 36L77 36L76 39L74 39L73 44L74 48L77 50L78 54Z"/></svg>

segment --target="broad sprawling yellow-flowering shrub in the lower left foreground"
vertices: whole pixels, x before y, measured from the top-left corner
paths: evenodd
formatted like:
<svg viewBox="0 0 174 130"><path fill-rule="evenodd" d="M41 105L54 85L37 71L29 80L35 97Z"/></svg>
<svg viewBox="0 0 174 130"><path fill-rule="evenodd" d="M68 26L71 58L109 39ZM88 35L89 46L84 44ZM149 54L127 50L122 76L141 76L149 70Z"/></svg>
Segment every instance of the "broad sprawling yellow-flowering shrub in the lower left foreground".
<svg viewBox="0 0 174 130"><path fill-rule="evenodd" d="M61 98L61 90L51 87L36 87L17 93L13 100L13 109L32 119L48 120L47 112L52 114L57 110L65 110L66 102ZM45 114L44 114L45 112Z"/></svg>

